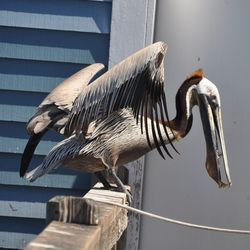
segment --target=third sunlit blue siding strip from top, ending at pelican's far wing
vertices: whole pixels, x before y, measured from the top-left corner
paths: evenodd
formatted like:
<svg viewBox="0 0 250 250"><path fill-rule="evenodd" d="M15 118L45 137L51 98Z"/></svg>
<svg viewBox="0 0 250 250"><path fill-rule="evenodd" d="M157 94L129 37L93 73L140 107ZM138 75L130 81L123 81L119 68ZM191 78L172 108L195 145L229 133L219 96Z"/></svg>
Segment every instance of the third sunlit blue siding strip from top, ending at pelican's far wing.
<svg viewBox="0 0 250 250"><path fill-rule="evenodd" d="M49 93L65 78L0 73L0 89ZM2 108L0 107L0 110Z"/></svg>

